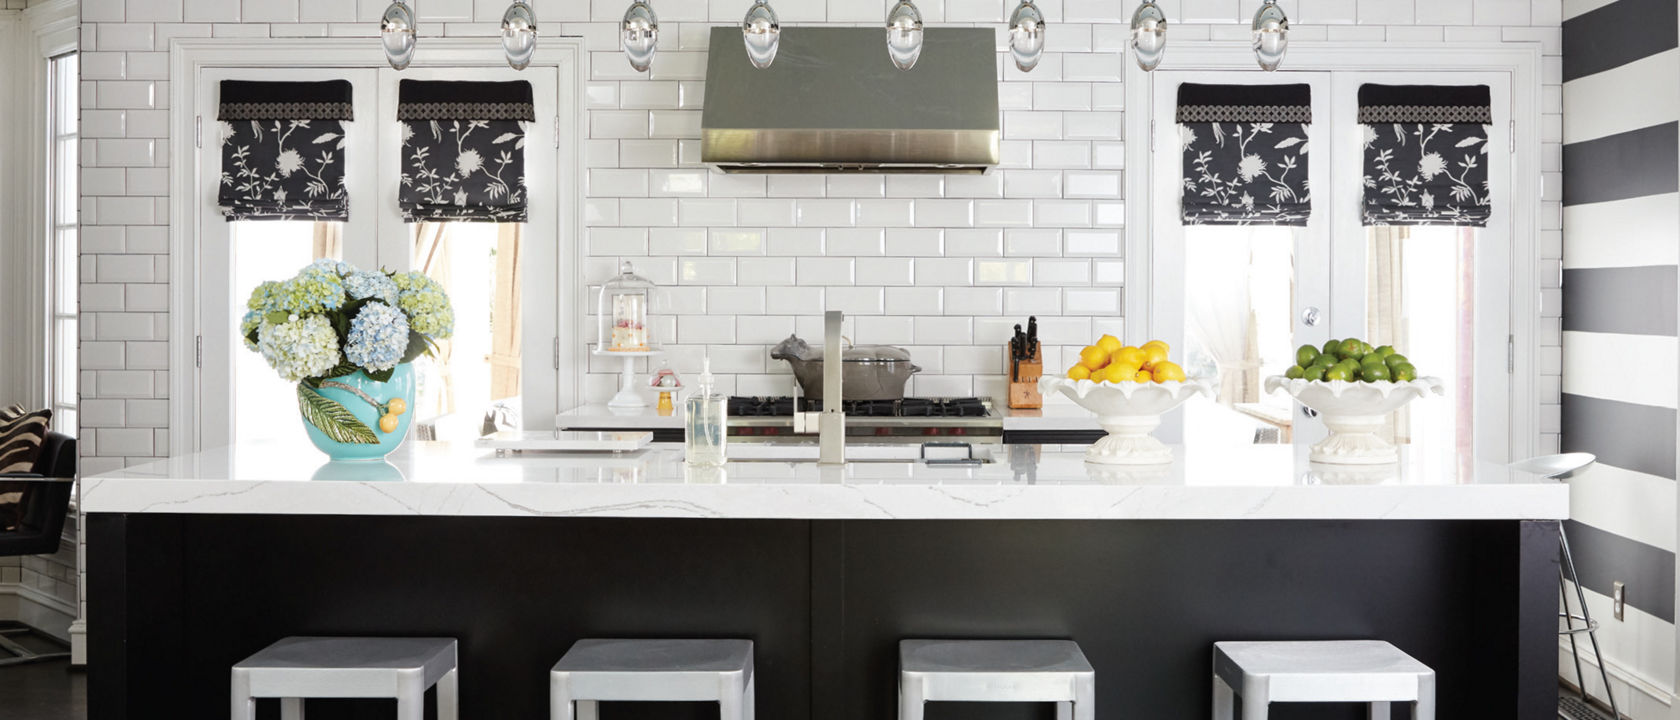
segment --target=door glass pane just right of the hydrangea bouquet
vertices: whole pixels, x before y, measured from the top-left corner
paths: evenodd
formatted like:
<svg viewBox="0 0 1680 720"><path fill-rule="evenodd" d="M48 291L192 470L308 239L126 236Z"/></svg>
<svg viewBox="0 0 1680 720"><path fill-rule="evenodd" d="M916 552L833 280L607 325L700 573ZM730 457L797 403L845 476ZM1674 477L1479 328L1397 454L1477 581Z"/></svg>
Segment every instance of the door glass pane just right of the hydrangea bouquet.
<svg viewBox="0 0 1680 720"><path fill-rule="evenodd" d="M449 292L455 334L415 361L420 440L470 440L521 426L522 223L410 225L413 267Z"/></svg>

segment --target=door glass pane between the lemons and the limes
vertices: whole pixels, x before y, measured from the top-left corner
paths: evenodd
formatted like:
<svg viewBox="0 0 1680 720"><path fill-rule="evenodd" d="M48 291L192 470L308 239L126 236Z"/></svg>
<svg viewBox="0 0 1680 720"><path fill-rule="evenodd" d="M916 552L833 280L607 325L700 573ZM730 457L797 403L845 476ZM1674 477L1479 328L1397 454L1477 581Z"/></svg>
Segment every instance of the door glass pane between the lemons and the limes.
<svg viewBox="0 0 1680 720"><path fill-rule="evenodd" d="M1295 364L1300 228L1184 228L1184 371L1218 376L1215 398L1184 404L1186 446L1289 443L1290 398L1262 381Z"/></svg>

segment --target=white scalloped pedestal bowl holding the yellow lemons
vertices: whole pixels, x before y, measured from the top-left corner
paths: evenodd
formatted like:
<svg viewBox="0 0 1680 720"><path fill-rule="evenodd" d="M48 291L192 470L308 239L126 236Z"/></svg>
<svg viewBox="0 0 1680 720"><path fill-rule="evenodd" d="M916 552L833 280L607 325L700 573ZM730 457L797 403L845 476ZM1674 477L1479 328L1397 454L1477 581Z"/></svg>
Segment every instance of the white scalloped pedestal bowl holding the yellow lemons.
<svg viewBox="0 0 1680 720"><path fill-rule="evenodd" d="M1161 415L1196 394L1213 396L1206 379L1183 383L1095 383L1043 376L1038 393L1062 393L1080 408L1097 413L1097 425L1109 435L1085 450L1085 462L1100 465L1161 465L1173 462L1173 450L1151 436Z"/></svg>

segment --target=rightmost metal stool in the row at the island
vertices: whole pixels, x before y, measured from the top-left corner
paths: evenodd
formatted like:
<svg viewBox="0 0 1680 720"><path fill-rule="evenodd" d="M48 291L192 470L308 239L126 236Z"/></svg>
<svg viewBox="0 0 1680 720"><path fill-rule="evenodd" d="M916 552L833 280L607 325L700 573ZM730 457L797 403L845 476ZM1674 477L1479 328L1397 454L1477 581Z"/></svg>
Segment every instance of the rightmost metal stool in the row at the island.
<svg viewBox="0 0 1680 720"><path fill-rule="evenodd" d="M1231 717L1231 693L1243 718L1263 718L1268 703L1371 703L1388 720L1388 703L1416 703L1435 717L1435 671L1399 648L1368 639L1302 643L1215 643L1213 717Z"/></svg>

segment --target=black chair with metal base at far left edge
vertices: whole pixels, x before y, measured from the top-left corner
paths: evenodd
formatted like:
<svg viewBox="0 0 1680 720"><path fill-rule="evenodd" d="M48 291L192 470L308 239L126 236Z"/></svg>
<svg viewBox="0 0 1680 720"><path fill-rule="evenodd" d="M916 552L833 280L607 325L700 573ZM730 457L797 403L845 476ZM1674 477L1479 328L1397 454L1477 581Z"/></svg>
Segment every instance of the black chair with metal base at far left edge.
<svg viewBox="0 0 1680 720"><path fill-rule="evenodd" d="M49 431L40 440L40 457L29 473L0 475L0 495L17 495L15 517L0 527L0 557L44 556L59 550L64 519L71 512L76 478L76 438ZM10 478L10 482L8 482ZM57 480L57 482L54 482ZM0 668L69 658L71 653L35 653L12 638L37 634L30 628L0 629ZM54 643L59 643L54 639Z"/></svg>

